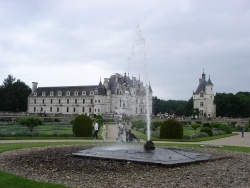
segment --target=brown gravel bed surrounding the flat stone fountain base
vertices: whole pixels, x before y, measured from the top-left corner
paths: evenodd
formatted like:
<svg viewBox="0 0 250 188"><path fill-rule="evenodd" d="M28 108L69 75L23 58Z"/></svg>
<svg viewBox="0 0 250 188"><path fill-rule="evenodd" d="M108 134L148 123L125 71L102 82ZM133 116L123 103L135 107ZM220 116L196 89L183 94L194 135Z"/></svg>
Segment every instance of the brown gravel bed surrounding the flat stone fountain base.
<svg viewBox="0 0 250 188"><path fill-rule="evenodd" d="M230 158L175 168L104 159L78 158L90 146L28 148L0 154L0 169L69 187L250 187L250 154L194 149Z"/></svg>

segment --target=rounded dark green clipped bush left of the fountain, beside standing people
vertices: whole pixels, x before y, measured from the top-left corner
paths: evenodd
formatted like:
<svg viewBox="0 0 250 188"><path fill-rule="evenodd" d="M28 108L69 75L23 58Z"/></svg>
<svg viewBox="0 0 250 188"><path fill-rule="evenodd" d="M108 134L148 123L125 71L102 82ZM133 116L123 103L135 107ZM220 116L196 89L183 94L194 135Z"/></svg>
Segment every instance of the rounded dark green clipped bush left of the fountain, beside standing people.
<svg viewBox="0 0 250 188"><path fill-rule="evenodd" d="M92 137L93 120L87 115L78 115L72 121L72 131L77 137Z"/></svg>

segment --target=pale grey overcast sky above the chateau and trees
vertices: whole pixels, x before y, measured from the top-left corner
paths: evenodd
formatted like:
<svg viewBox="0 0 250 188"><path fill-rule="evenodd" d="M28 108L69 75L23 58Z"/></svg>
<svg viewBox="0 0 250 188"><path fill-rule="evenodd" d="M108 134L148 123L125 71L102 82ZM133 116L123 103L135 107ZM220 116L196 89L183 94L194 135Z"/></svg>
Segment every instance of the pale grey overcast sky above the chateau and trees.
<svg viewBox="0 0 250 188"><path fill-rule="evenodd" d="M139 25L146 67L131 62ZM145 67L145 66L144 66ZM153 95L188 100L203 72L217 93L250 91L249 0L0 0L0 84L97 85L147 74Z"/></svg>

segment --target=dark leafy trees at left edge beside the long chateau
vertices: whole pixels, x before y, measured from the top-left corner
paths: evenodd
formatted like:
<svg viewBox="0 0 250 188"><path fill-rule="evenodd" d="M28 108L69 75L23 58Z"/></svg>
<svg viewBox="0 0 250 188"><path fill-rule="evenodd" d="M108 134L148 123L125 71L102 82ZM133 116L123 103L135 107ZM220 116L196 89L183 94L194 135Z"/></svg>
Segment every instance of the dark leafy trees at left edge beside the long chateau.
<svg viewBox="0 0 250 188"><path fill-rule="evenodd" d="M8 75L0 87L0 111L26 111L31 88Z"/></svg>

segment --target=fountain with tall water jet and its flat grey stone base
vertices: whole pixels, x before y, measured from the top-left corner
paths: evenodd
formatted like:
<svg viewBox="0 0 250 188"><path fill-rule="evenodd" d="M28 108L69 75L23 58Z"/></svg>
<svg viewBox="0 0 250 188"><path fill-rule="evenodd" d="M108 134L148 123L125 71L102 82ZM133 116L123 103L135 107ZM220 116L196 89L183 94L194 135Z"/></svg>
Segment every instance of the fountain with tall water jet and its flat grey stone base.
<svg viewBox="0 0 250 188"><path fill-rule="evenodd" d="M150 134L150 110L149 110L149 83L147 75L145 39L142 36L139 26L136 30L136 39L132 47L131 62L133 65L140 64L144 67L144 80L146 83L146 122L147 122L147 141L144 147L131 144L115 144L109 146L99 146L85 149L77 153L73 153L79 157L103 158L112 160L133 161L147 164L161 165L181 165L187 163L195 163L215 159L208 153L195 153L183 149L166 149L156 148L151 140ZM141 69L139 69L141 70Z"/></svg>

